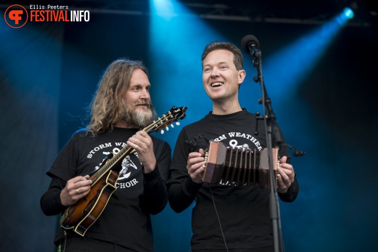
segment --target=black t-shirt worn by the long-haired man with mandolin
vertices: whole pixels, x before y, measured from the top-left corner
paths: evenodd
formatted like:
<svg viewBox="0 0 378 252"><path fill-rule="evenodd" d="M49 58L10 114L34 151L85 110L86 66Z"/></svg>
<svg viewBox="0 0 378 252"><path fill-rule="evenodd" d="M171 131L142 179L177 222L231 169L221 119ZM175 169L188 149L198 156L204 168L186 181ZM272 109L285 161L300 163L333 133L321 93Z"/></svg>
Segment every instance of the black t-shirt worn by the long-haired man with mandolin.
<svg viewBox="0 0 378 252"><path fill-rule="evenodd" d="M110 153L119 153L126 146L128 138L136 131L137 129L116 127L112 132L105 132L97 137L92 137L85 130L77 131L46 172L53 177L49 190L54 190L59 180L66 182L75 176L84 176L100 168L105 157ZM116 243L135 251L152 251L150 213L160 212L167 204L166 182L171 149L167 142L154 136L151 138L157 167L150 173L143 173L136 152L120 159L122 168L116 183L117 189L101 215L87 229L85 237ZM64 185L65 183L60 186L63 188ZM51 200L44 196L41 206L42 210L46 208L52 212L64 208L57 204L52 206ZM72 229L68 229L67 233L78 235Z"/></svg>

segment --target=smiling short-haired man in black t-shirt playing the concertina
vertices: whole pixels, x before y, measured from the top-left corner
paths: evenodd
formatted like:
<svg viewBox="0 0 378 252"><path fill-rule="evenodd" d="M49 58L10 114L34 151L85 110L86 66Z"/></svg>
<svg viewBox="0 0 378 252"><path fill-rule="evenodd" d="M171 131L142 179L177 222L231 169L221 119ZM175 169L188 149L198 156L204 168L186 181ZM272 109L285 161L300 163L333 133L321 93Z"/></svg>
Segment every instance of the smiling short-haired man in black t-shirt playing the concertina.
<svg viewBox="0 0 378 252"><path fill-rule="evenodd" d="M202 69L212 111L183 127L178 136L170 166L169 205L181 212L196 201L192 252L273 252L270 190L223 177L220 182L203 182L206 139L249 153L267 146L263 123L239 103L239 87L246 77L242 53L232 43L212 42L202 54ZM272 146L277 146L276 139ZM289 151L279 147L277 192L282 201L292 202L299 187Z"/></svg>

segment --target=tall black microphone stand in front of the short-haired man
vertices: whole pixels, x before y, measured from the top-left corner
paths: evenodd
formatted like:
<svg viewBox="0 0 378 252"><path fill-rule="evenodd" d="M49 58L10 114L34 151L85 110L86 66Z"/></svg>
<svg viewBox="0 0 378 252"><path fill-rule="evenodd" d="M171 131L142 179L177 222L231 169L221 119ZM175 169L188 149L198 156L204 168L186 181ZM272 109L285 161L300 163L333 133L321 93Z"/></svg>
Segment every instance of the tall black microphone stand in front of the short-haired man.
<svg viewBox="0 0 378 252"><path fill-rule="evenodd" d="M284 252L283 247L283 237L281 229L281 219L280 219L280 210L278 203L278 194L276 188L276 179L274 177L273 170L273 158L272 158L272 134L278 145L283 143L281 132L278 128L278 125L275 122L276 116L273 113L272 104L270 98L265 89L265 85L262 78L262 67L261 67L261 52L258 50L252 50L250 48L250 53L253 56L253 66L257 70L257 77L253 77L254 82L259 82L261 85L262 98L259 99L259 103L263 104L263 119L265 125L265 134L267 137L266 143L268 148L268 161L269 161L269 189L270 189L270 217L272 219L273 226L273 245L275 252ZM266 110L265 111L265 107Z"/></svg>

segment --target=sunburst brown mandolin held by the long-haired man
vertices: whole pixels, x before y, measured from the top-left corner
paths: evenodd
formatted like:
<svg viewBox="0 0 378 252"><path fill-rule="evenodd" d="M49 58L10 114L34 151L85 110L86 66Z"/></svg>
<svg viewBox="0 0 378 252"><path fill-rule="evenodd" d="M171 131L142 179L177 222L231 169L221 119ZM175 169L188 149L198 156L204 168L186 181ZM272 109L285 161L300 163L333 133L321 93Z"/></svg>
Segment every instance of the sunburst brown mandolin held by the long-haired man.
<svg viewBox="0 0 378 252"><path fill-rule="evenodd" d="M147 133L161 130L164 127L168 130L168 125L185 118L187 107L172 107L167 114L155 120L151 125L142 130ZM105 209L111 195L117 189L116 182L120 176L122 167L119 165L122 160L134 151L126 145L119 153L110 153L106 156L101 167L93 174L90 174L92 184L89 193L78 200L74 205L69 206L60 217L60 226L64 229L73 229L76 233L84 236L88 228L98 219Z"/></svg>

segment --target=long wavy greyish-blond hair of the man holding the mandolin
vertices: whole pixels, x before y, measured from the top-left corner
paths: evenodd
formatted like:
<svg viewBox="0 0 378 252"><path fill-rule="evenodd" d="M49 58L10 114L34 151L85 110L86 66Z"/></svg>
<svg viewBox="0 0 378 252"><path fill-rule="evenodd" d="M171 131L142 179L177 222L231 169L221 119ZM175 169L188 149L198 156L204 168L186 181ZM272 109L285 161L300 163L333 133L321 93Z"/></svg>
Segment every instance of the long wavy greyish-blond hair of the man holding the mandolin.
<svg viewBox="0 0 378 252"><path fill-rule="evenodd" d="M93 136L112 131L114 124L121 119L122 99L135 69L141 69L148 76L144 63L138 60L120 58L106 68L87 109L90 122L86 129Z"/></svg>

